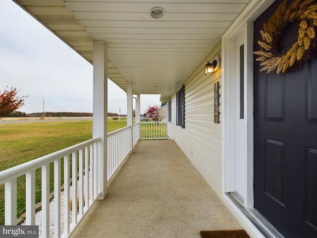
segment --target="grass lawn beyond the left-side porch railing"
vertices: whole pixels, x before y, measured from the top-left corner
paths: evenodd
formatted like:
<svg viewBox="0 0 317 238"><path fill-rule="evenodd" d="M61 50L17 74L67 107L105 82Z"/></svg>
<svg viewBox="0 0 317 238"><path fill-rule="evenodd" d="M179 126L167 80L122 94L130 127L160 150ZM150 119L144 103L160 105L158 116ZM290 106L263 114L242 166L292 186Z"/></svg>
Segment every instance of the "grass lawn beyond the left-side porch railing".
<svg viewBox="0 0 317 238"><path fill-rule="evenodd" d="M126 120L108 119L107 132L124 126ZM93 136L92 129L92 120L0 124L0 171L89 140ZM39 202L41 200L40 169L37 170L36 175L36 202ZM50 188L53 191L53 178L51 180ZM25 212L25 176L18 178L17 187L17 216L20 216ZM0 184L0 225L3 224L4 184Z"/></svg>

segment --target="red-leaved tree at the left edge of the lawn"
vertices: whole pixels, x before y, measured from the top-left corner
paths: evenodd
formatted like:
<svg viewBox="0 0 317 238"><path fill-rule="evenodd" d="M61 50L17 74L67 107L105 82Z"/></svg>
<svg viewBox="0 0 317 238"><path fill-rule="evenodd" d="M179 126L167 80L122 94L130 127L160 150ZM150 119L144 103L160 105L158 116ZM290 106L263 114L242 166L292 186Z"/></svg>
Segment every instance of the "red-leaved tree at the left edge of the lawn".
<svg viewBox="0 0 317 238"><path fill-rule="evenodd" d="M0 117L9 115L19 107L24 105L24 99L28 96L18 97L19 90L6 86L7 89L0 91Z"/></svg>

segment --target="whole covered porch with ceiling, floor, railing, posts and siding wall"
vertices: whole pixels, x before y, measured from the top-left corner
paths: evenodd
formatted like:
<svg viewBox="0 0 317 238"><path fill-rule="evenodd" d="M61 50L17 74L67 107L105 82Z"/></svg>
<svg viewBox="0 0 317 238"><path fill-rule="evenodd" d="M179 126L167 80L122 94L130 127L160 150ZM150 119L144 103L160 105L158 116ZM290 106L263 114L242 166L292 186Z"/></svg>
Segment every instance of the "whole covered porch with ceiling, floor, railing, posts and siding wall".
<svg viewBox="0 0 317 238"><path fill-rule="evenodd" d="M253 21L273 0L13 1L93 64L94 119L92 140L0 173L5 225L16 224L21 175L30 191L26 224L35 225L41 168L42 236L49 237L48 168L54 164L60 197L62 158L64 181L77 183L78 192L66 183L74 199L65 199L64 214L56 199L54 224L63 220L65 230L55 226L54 237L199 237L240 226L265 237L243 211L254 208ZM217 63L205 72L210 62ZM108 134L107 78L127 94L127 127ZM139 140L142 94L167 104L173 140Z"/></svg>

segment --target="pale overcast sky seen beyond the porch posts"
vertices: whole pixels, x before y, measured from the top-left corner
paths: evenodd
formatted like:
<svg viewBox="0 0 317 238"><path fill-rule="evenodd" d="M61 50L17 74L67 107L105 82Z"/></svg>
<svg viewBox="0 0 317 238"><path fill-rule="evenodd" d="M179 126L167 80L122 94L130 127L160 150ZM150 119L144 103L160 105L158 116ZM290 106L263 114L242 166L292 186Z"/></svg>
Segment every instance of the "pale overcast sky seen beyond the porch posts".
<svg viewBox="0 0 317 238"><path fill-rule="evenodd" d="M28 95L20 112L92 112L93 66L11 0L0 2L0 91ZM108 80L108 112L126 114L126 93ZM135 104L135 100L133 100ZM141 114L160 105L141 95Z"/></svg>

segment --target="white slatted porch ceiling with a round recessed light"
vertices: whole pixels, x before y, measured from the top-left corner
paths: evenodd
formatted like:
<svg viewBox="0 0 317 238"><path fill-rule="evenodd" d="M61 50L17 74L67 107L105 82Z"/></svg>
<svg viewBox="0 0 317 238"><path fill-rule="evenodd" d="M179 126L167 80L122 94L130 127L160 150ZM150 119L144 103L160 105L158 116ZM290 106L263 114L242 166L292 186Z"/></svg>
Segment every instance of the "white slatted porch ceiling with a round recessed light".
<svg viewBox="0 0 317 238"><path fill-rule="evenodd" d="M105 41L114 83L166 101L251 0L14 1L91 63L93 41ZM152 18L154 7L165 15Z"/></svg>

